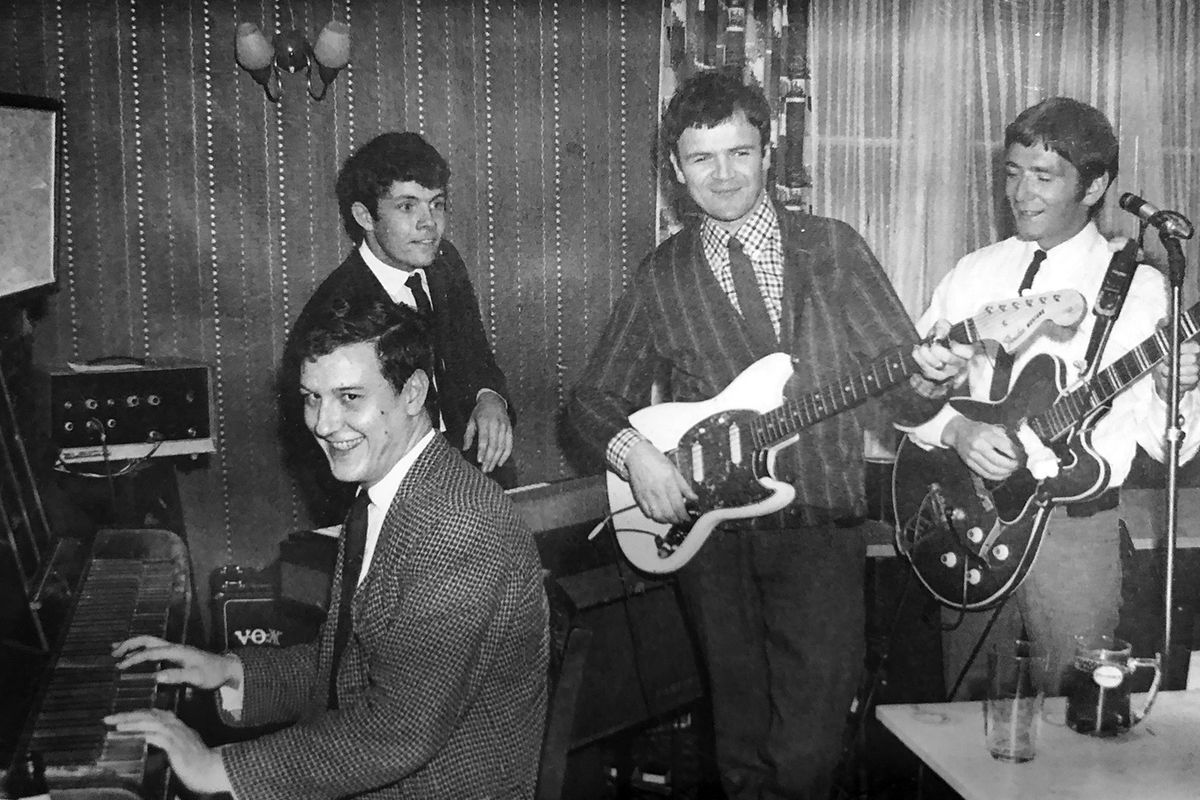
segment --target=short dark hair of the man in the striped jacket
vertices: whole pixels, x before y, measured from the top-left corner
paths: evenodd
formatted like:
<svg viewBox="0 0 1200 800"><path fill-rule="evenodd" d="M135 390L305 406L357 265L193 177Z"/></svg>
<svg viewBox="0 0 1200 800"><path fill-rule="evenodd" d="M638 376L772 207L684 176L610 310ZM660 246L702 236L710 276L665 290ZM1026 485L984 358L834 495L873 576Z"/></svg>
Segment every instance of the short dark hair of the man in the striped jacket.
<svg viewBox="0 0 1200 800"><path fill-rule="evenodd" d="M731 70L707 70L688 78L662 113L659 137L664 158L671 154L679 156L679 137L688 128L714 127L737 112L758 128L758 140L766 151L770 144L770 106L762 89L742 83L740 74Z"/></svg>

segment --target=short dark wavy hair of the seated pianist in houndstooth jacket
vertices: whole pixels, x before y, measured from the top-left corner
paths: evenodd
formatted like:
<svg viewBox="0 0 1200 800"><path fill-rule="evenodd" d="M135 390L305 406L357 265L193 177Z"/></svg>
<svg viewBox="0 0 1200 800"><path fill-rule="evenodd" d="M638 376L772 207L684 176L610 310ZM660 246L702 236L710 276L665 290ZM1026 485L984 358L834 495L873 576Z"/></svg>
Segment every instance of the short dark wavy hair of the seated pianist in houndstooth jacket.
<svg viewBox="0 0 1200 800"><path fill-rule="evenodd" d="M289 338L288 362L296 379L305 361L314 361L348 344L374 343L379 372L400 395L416 369L433 384L433 344L430 323L402 303L335 295L329 302L305 309ZM434 395L425 396L430 419L437 419Z"/></svg>

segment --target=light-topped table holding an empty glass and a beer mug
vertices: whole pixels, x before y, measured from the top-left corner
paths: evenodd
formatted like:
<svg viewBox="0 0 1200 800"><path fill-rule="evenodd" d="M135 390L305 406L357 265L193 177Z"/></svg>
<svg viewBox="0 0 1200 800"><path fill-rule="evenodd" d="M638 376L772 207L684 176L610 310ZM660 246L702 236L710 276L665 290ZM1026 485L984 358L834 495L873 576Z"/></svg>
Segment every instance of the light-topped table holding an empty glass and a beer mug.
<svg viewBox="0 0 1200 800"><path fill-rule="evenodd" d="M1200 692L1159 692L1150 716L1112 739L1068 728L1064 706L1046 698L1037 758L1025 764L988 753L978 700L880 705L876 716L966 800L1200 796Z"/></svg>

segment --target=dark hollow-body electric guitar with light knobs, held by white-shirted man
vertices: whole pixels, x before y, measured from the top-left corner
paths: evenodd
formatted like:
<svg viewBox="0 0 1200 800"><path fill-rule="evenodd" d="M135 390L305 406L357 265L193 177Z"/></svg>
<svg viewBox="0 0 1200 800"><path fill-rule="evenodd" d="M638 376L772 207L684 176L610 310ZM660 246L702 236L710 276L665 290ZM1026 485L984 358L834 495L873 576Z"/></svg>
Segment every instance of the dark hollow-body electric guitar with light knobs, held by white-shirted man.
<svg viewBox="0 0 1200 800"><path fill-rule="evenodd" d="M1200 303L1181 320L1182 339L1196 336ZM1109 485L1111 468L1091 444L1091 427L1108 403L1170 351L1162 330L1099 371L1067 386L1066 365L1037 355L1001 401L950 399L977 422L1021 425L1058 458L1058 474L1036 479L1022 464L1003 481L976 475L953 449L900 443L892 473L896 549L941 603L983 610L1000 603L1028 575L1055 503L1088 500Z"/></svg>

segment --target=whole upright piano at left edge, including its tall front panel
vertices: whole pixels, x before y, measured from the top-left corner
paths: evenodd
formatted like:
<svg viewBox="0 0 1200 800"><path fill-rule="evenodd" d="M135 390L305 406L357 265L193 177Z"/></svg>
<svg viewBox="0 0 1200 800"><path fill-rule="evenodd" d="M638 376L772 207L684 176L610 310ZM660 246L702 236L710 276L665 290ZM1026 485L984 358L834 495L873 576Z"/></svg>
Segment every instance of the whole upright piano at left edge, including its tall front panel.
<svg viewBox="0 0 1200 800"><path fill-rule="evenodd" d="M54 800L173 796L161 751L103 717L179 699L152 666L116 670L112 644L140 633L187 640L187 548L149 528L56 536L17 429L0 368L0 787L35 750Z"/></svg>

